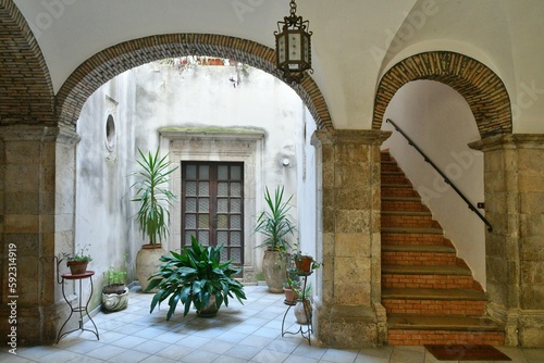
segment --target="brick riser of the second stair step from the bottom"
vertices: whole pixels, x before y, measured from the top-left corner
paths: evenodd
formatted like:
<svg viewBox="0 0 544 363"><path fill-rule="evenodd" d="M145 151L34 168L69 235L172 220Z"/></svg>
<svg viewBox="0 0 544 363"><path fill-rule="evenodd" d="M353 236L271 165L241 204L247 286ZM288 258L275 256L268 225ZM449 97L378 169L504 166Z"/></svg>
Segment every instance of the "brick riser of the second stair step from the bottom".
<svg viewBox="0 0 544 363"><path fill-rule="evenodd" d="M482 316L486 303L470 300L382 299L382 304L388 314Z"/></svg>

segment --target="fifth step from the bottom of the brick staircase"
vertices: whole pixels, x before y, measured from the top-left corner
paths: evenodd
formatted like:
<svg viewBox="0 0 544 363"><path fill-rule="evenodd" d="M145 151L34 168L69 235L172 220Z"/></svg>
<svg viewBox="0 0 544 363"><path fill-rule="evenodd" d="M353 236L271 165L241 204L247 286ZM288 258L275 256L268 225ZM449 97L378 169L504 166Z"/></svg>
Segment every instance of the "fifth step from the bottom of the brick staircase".
<svg viewBox="0 0 544 363"><path fill-rule="evenodd" d="M445 243L442 228L390 228L382 227L382 245L433 245Z"/></svg>

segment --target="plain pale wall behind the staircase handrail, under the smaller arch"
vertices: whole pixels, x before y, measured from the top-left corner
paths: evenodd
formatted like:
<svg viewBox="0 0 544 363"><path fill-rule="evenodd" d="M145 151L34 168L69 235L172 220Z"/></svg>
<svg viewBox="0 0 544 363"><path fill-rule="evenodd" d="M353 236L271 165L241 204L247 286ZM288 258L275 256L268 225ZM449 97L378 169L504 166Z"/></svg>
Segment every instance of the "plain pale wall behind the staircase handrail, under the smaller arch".
<svg viewBox="0 0 544 363"><path fill-rule="evenodd" d="M474 206L484 201L483 154L468 147L480 136L467 101L457 91L437 82L411 82L397 91L385 112L382 128L393 130L393 125L385 122L387 118L423 150ZM458 256L485 288L485 224L398 132L393 132L383 148L391 150L433 218L444 227ZM484 210L479 211L485 215Z"/></svg>

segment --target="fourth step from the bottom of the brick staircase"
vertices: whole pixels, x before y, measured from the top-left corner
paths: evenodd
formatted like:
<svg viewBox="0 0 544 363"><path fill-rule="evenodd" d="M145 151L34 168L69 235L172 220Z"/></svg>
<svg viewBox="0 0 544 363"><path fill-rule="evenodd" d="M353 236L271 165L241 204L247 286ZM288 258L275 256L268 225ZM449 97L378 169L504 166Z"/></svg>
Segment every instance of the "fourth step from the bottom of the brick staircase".
<svg viewBox="0 0 544 363"><path fill-rule="evenodd" d="M447 246L382 245L382 264L456 265L455 248Z"/></svg>

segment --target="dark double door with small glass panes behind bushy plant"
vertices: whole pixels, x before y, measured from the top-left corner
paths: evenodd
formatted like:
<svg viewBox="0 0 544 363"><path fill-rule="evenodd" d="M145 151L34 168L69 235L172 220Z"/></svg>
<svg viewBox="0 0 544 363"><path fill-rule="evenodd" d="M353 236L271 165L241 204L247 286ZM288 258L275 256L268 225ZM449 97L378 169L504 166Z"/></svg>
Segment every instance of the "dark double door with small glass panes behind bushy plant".
<svg viewBox="0 0 544 363"><path fill-rule="evenodd" d="M182 162L182 246L195 236L244 264L244 164Z"/></svg>

